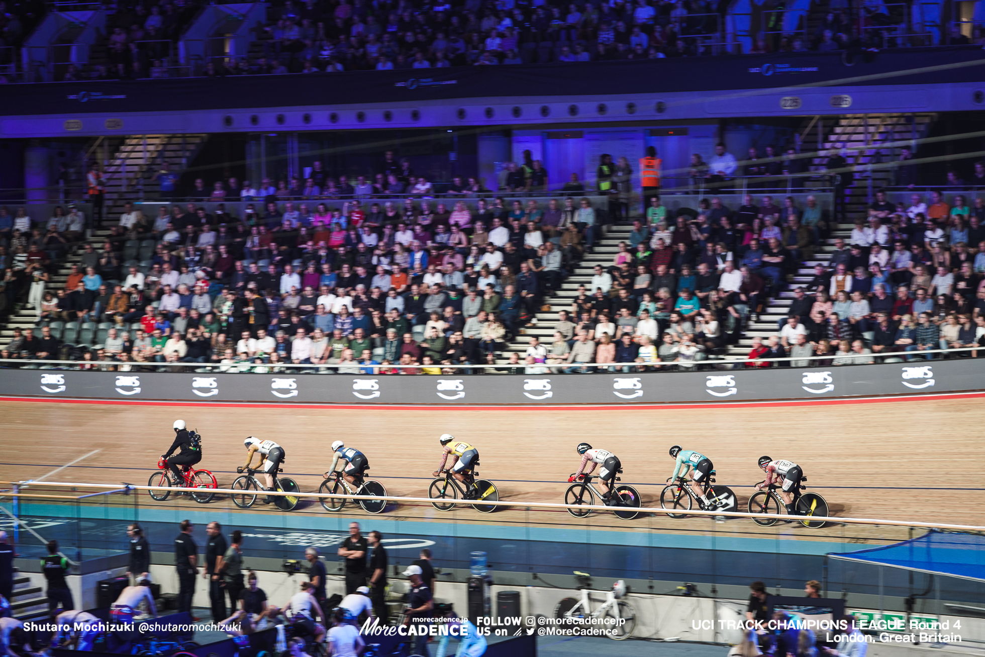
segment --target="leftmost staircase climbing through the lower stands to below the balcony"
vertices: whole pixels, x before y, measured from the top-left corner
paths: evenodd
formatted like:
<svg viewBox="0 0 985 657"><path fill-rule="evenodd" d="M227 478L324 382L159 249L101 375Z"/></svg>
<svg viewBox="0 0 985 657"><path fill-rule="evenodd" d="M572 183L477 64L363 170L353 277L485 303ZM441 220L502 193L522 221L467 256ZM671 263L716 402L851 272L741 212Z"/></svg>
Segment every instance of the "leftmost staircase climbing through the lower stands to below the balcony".
<svg viewBox="0 0 985 657"><path fill-rule="evenodd" d="M170 164L172 171L182 171L195 158L207 139L208 135L136 135L119 143L113 142L112 159L102 167L106 187L102 208L103 227L113 226L119 221L123 204L127 201L159 199L161 190L158 181L154 179L154 172L164 162ZM93 152L99 151L93 149ZM89 219L92 225L92 218ZM85 243L92 242L99 250L107 234L108 228L89 231L89 236L78 245L78 249L62 261L57 271L50 273L46 290L64 288L72 265L79 264L81 260ZM0 329L0 345L10 342L15 328L25 331L33 328L36 316L36 310L25 307L23 303L19 304L11 313L7 325Z"/></svg>

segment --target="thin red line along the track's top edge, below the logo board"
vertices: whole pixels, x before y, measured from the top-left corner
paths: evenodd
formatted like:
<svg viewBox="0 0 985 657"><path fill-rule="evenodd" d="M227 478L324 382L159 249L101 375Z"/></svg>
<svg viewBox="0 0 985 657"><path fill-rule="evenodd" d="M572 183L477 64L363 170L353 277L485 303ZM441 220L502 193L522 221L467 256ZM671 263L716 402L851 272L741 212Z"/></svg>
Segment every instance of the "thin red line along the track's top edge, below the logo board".
<svg viewBox="0 0 985 657"><path fill-rule="evenodd" d="M54 402L57 404L112 404L121 406L205 406L209 408L287 408L287 409L336 409L344 411L354 411L357 409L371 409L374 411L434 411L436 409L451 410L460 409L463 411L625 411L627 409L640 409L645 411L676 410L676 409L700 409L707 407L727 408L727 409L750 409L770 406L831 406L840 404L878 404L883 402L898 401L929 401L936 399L971 399L985 395L985 391L978 392L956 392L941 393L937 395L899 395L894 397L861 397L861 398L841 398L841 399L805 399L805 400L778 400L761 402L698 402L686 404L580 404L577 406L550 406L533 404L518 405L469 405L453 406L444 404L427 405L400 405L400 404L283 404L283 403L252 403L252 402L197 402L197 401L150 401L137 399L73 399L67 397L16 397L0 396L0 402Z"/></svg>

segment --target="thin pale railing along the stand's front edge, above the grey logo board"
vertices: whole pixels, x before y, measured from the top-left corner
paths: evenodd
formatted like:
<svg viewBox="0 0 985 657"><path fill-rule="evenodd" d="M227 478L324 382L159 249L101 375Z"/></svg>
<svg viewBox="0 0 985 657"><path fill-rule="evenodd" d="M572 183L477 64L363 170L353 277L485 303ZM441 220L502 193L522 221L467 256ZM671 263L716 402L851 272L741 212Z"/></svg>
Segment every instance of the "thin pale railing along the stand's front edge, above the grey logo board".
<svg viewBox="0 0 985 657"><path fill-rule="evenodd" d="M122 334L122 329L120 334ZM778 331L777 331L778 333ZM424 338L421 338L423 341ZM416 344L416 343L415 343ZM378 349L378 348L377 348ZM771 366L794 366L812 367L815 363L823 363L823 366L861 366L868 364L879 364L886 359L897 359L898 361L929 361L938 359L937 355L958 355L968 354L971 358L985 358L985 347L960 347L954 349L928 349L914 351L893 351L861 354L856 352L835 353L824 356L791 356L780 359L773 358L737 358L734 360L701 360L701 361L621 361L621 362L575 362L575 361L544 361L544 362L478 362L470 364L403 364L399 361L389 365L379 362L334 362L334 363L304 363L291 361L278 362L252 362L248 357L244 361L226 362L199 362L192 360L176 361L59 361L59 360L36 360L36 359L0 359L0 368L20 368L24 365L33 365L32 368L45 369L83 369L92 371L132 371L142 370L173 372L196 370L218 371L220 373L256 373L271 374L279 372L290 372L296 374L316 374L322 371L336 370L340 374L401 374L401 370L424 371L424 370L448 370L448 372L430 371L426 373L439 374L456 372L460 374L470 373L514 373L514 374L547 374L561 373L565 369L570 370L595 370L595 373L609 374L614 372L642 372L642 371L661 371L663 368L675 368L679 371L697 371L701 368L711 367L713 369L732 369L732 368L765 368ZM166 358L162 356L162 358ZM845 362L835 362L845 361ZM123 367L121 369L120 367ZM985 365L983 365L985 367ZM389 371L393 370L393 371ZM474 371L478 370L478 371ZM571 373L581 373L572 371ZM403 372L408 373L408 372ZM567 373L567 372L565 372Z"/></svg>

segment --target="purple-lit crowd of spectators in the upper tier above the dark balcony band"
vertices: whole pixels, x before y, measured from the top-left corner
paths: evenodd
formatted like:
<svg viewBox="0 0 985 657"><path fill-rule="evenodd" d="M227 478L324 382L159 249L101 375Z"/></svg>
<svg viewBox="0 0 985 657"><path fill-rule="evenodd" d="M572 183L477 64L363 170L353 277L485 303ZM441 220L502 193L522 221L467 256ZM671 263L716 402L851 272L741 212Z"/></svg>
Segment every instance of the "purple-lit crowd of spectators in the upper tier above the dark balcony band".
<svg viewBox="0 0 985 657"><path fill-rule="evenodd" d="M609 2L438 2L409 0L284 0L272 3L266 25L253 32L254 56L210 58L178 65L179 31L199 2L144 0L109 12L107 63L68 65L58 79L160 78L188 75L311 73L442 68L450 66L655 59L734 53L722 26L727 3L711 0L610 0ZM802 52L849 47L930 45L911 35L907 20L883 2L831 3L812 32L807 17L784 26L781 12L764 10L764 35L749 52ZM0 12L0 28L3 13ZM3 42L17 45L24 27L17 14ZM972 26L955 29L942 43L985 43ZM905 34L905 35L902 35ZM2 43L0 43L2 44ZM14 61L12 59L12 61ZM190 64L190 63L186 63Z"/></svg>

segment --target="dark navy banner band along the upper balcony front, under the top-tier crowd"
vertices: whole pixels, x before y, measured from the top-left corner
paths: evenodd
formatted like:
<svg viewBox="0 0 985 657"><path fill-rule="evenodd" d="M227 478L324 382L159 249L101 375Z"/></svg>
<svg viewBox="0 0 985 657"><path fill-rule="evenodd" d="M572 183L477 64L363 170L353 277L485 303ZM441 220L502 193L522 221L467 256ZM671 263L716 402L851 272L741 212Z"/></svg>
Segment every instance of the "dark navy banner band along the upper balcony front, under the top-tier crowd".
<svg viewBox="0 0 985 657"><path fill-rule="evenodd" d="M981 46L295 75L7 85L0 115L317 106L430 99L666 94L979 82ZM585 81L591 80L586 87ZM258 94L258 90L263 90Z"/></svg>

